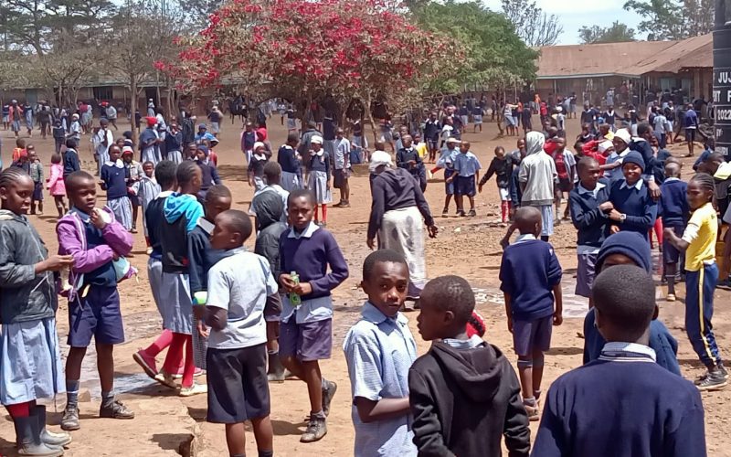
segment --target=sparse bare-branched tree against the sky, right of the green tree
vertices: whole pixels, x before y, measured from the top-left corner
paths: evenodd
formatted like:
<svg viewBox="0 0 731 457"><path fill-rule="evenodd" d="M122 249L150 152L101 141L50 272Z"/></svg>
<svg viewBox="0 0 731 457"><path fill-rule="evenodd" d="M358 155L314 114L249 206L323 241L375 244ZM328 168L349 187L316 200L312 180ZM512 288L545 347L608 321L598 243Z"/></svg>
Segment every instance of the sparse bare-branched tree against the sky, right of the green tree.
<svg viewBox="0 0 731 457"><path fill-rule="evenodd" d="M533 48L552 46L564 32L558 16L548 15L535 5L535 0L501 0L503 15L515 27L518 37Z"/></svg>

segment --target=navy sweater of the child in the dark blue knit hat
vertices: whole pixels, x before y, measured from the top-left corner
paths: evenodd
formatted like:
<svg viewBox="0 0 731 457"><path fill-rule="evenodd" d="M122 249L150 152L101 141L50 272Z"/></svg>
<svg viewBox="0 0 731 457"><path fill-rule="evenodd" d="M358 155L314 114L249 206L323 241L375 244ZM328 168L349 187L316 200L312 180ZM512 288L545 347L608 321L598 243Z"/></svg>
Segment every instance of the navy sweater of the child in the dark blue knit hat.
<svg viewBox="0 0 731 457"><path fill-rule="evenodd" d="M641 186L628 187L624 179L615 181L609 191L609 201L614 208L627 215L624 222L612 220L611 223L620 230L629 230L641 233L645 238L647 231L652 228L657 218L657 203L650 197L650 190L644 182Z"/></svg>

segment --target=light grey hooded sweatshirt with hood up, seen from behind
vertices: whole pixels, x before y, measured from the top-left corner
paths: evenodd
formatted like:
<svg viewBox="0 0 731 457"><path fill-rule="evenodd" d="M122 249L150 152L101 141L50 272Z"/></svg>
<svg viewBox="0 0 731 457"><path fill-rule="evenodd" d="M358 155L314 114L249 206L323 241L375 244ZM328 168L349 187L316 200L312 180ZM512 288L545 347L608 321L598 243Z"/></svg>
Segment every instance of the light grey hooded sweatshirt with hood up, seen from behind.
<svg viewBox="0 0 731 457"><path fill-rule="evenodd" d="M543 150L544 143L546 138L540 132L529 132L525 137L526 154L518 174L525 185L521 202L524 207L552 205L554 201L556 164Z"/></svg>

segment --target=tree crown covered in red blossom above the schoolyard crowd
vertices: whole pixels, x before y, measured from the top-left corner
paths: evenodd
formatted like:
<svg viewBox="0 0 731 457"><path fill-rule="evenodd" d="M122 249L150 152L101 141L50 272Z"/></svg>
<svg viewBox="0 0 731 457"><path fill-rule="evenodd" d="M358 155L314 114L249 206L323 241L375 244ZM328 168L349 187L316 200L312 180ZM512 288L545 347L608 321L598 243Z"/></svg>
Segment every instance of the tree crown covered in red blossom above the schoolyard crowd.
<svg viewBox="0 0 731 457"><path fill-rule="evenodd" d="M418 88L459 52L387 0L231 0L209 21L179 42L178 61L159 64L181 89L228 80L299 106L323 95L367 106Z"/></svg>

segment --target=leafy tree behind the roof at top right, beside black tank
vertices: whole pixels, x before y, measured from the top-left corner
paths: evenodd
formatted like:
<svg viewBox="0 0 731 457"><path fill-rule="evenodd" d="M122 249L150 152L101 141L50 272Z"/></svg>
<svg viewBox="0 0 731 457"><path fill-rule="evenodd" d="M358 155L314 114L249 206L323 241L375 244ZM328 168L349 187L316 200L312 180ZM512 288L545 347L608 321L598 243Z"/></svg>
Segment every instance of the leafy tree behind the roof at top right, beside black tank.
<svg viewBox="0 0 731 457"><path fill-rule="evenodd" d="M638 29L650 40L705 35L714 27L714 0L628 0L624 9L641 16Z"/></svg>

